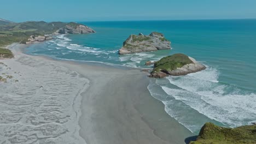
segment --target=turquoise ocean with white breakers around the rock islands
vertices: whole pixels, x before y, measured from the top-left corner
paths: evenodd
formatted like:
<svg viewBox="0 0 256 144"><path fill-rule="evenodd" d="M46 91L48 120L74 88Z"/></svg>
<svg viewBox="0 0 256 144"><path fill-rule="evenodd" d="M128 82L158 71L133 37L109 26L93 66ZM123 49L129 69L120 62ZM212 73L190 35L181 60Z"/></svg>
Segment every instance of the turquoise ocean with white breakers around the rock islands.
<svg viewBox="0 0 256 144"><path fill-rule="evenodd" d="M184 53L207 69L186 76L150 79L151 95L193 133L206 122L225 127L256 122L256 20L179 20L80 22L97 33L57 35L31 45L30 55L149 68L173 53ZM130 34L161 32L171 50L118 55Z"/></svg>

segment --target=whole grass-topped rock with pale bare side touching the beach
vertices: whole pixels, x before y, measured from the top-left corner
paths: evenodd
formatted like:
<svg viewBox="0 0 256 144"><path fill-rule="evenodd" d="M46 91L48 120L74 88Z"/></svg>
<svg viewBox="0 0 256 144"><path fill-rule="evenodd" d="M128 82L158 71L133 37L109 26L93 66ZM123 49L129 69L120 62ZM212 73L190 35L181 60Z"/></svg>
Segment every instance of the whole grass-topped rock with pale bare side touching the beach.
<svg viewBox="0 0 256 144"><path fill-rule="evenodd" d="M197 71L204 69L206 69L206 67L195 61L194 58L186 56L182 53L176 53L155 62L154 69L149 77L163 78L168 75L187 75L189 73L196 73Z"/></svg>

